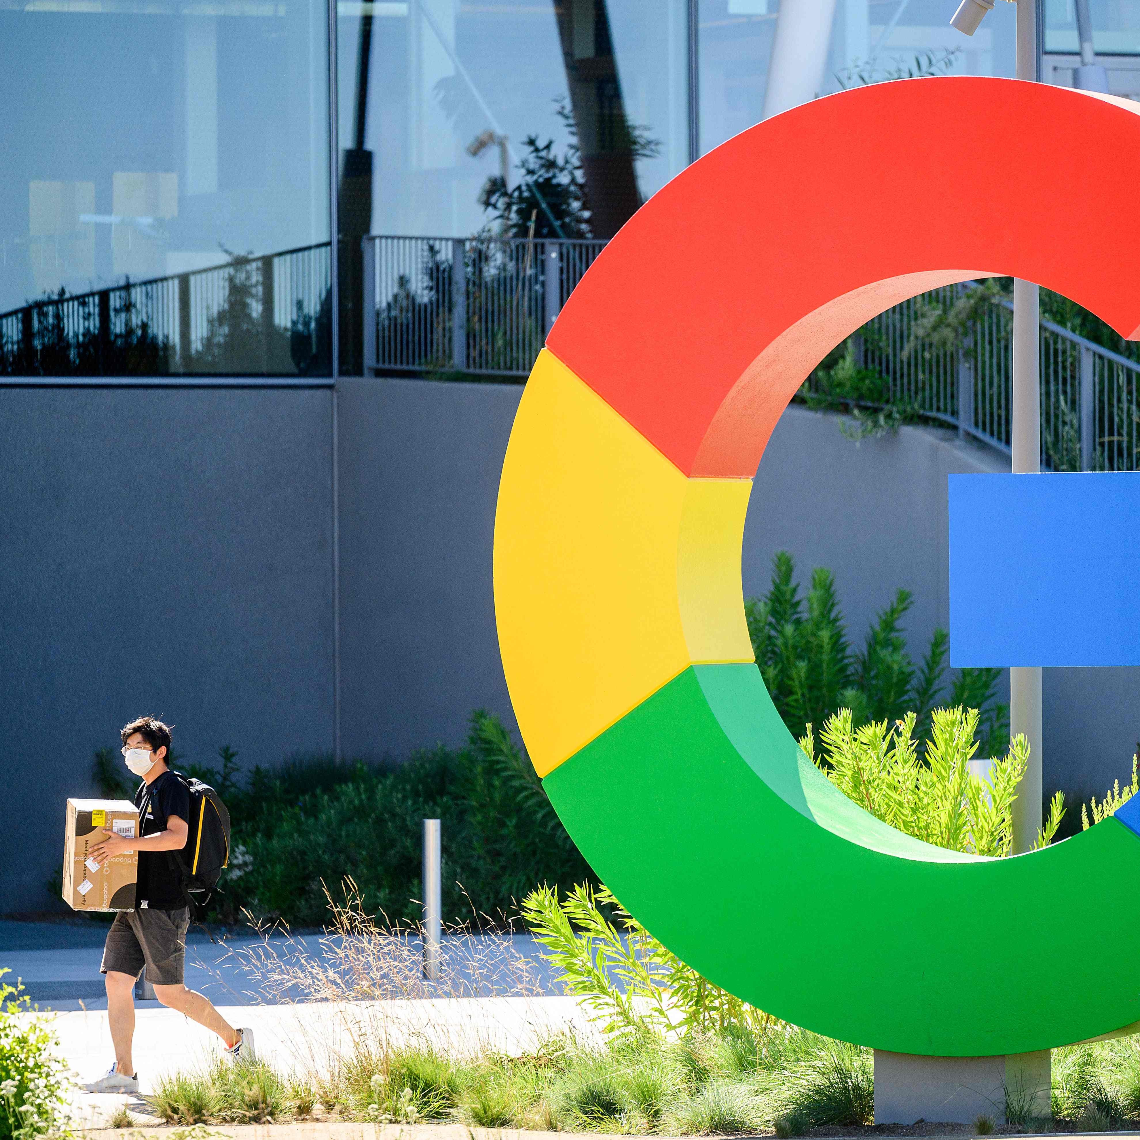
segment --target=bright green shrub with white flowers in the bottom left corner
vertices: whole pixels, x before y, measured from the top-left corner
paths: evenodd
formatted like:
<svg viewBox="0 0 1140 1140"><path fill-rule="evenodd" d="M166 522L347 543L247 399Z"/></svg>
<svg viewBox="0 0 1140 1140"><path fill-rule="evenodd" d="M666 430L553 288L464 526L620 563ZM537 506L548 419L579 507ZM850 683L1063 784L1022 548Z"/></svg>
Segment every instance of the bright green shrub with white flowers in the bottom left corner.
<svg viewBox="0 0 1140 1140"><path fill-rule="evenodd" d="M0 969L0 979L9 971ZM47 1023L25 1018L27 997L0 980L0 1140L58 1132L67 1109L67 1076Z"/></svg>

